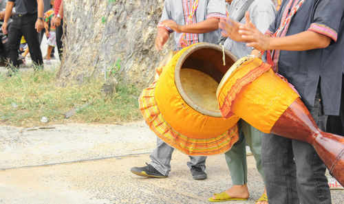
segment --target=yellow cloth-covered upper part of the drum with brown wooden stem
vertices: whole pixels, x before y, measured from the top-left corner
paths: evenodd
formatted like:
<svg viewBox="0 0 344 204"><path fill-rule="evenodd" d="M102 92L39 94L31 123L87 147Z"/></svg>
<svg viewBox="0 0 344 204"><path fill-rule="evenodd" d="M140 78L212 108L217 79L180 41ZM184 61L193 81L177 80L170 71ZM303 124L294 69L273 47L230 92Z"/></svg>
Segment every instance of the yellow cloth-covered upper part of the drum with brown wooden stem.
<svg viewBox="0 0 344 204"><path fill-rule="evenodd" d="M224 117L239 115L270 133L279 117L299 95L259 58L241 58L230 67L217 89Z"/></svg>

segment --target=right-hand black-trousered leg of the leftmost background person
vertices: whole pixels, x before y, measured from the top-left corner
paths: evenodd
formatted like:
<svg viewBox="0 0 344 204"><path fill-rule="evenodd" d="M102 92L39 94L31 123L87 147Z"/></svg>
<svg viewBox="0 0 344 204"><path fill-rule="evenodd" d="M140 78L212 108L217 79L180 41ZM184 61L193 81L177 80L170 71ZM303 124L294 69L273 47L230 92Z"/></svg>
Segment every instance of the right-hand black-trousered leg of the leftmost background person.
<svg viewBox="0 0 344 204"><path fill-rule="evenodd" d="M23 23L21 29L26 42L28 43L32 63L43 67L43 58L41 47L39 45L39 36L35 30L36 15L23 16Z"/></svg>

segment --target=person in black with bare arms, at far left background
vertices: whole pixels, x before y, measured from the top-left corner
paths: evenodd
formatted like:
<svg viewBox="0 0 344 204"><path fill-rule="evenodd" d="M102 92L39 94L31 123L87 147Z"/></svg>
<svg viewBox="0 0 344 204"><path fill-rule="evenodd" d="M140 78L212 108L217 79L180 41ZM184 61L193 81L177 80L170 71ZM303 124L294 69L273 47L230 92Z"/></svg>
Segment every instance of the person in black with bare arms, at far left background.
<svg viewBox="0 0 344 204"><path fill-rule="evenodd" d="M13 22L8 29L8 19L12 8L16 8ZM17 47L24 36L28 43L32 63L43 67L43 58L38 38L38 32L43 29L43 0L8 0L6 14L3 21L3 34L8 33L8 56L9 64L18 67L20 64ZM36 68L36 67L34 67Z"/></svg>

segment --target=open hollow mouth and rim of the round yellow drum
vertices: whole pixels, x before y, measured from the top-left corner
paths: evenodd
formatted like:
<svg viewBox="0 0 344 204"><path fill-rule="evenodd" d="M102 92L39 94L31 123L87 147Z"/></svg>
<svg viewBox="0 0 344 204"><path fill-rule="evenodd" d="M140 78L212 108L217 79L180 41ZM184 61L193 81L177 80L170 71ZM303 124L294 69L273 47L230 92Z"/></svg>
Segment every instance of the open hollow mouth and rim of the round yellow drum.
<svg viewBox="0 0 344 204"><path fill-rule="evenodd" d="M216 89L235 61L237 58L219 45L200 43L187 49L175 65L175 85L184 102L204 115L222 117Z"/></svg>

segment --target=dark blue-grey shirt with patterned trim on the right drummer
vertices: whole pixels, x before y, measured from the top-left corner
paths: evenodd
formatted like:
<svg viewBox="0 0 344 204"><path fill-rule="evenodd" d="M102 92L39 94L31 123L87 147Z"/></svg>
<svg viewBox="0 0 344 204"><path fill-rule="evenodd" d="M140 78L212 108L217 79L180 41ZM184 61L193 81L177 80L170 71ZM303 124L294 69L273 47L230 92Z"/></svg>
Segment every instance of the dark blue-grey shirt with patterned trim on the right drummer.
<svg viewBox="0 0 344 204"><path fill-rule="evenodd" d="M274 34L283 23L282 19L290 5L299 1L285 0L277 13L277 19L270 25L270 34ZM275 65L278 71L294 85L308 109L314 106L316 87L321 79L321 95L325 115L338 115L341 104L341 76L344 56L344 1L312 0L304 1L290 25L281 34L290 36L306 30L324 34L332 38L325 49L306 51L275 50Z"/></svg>

